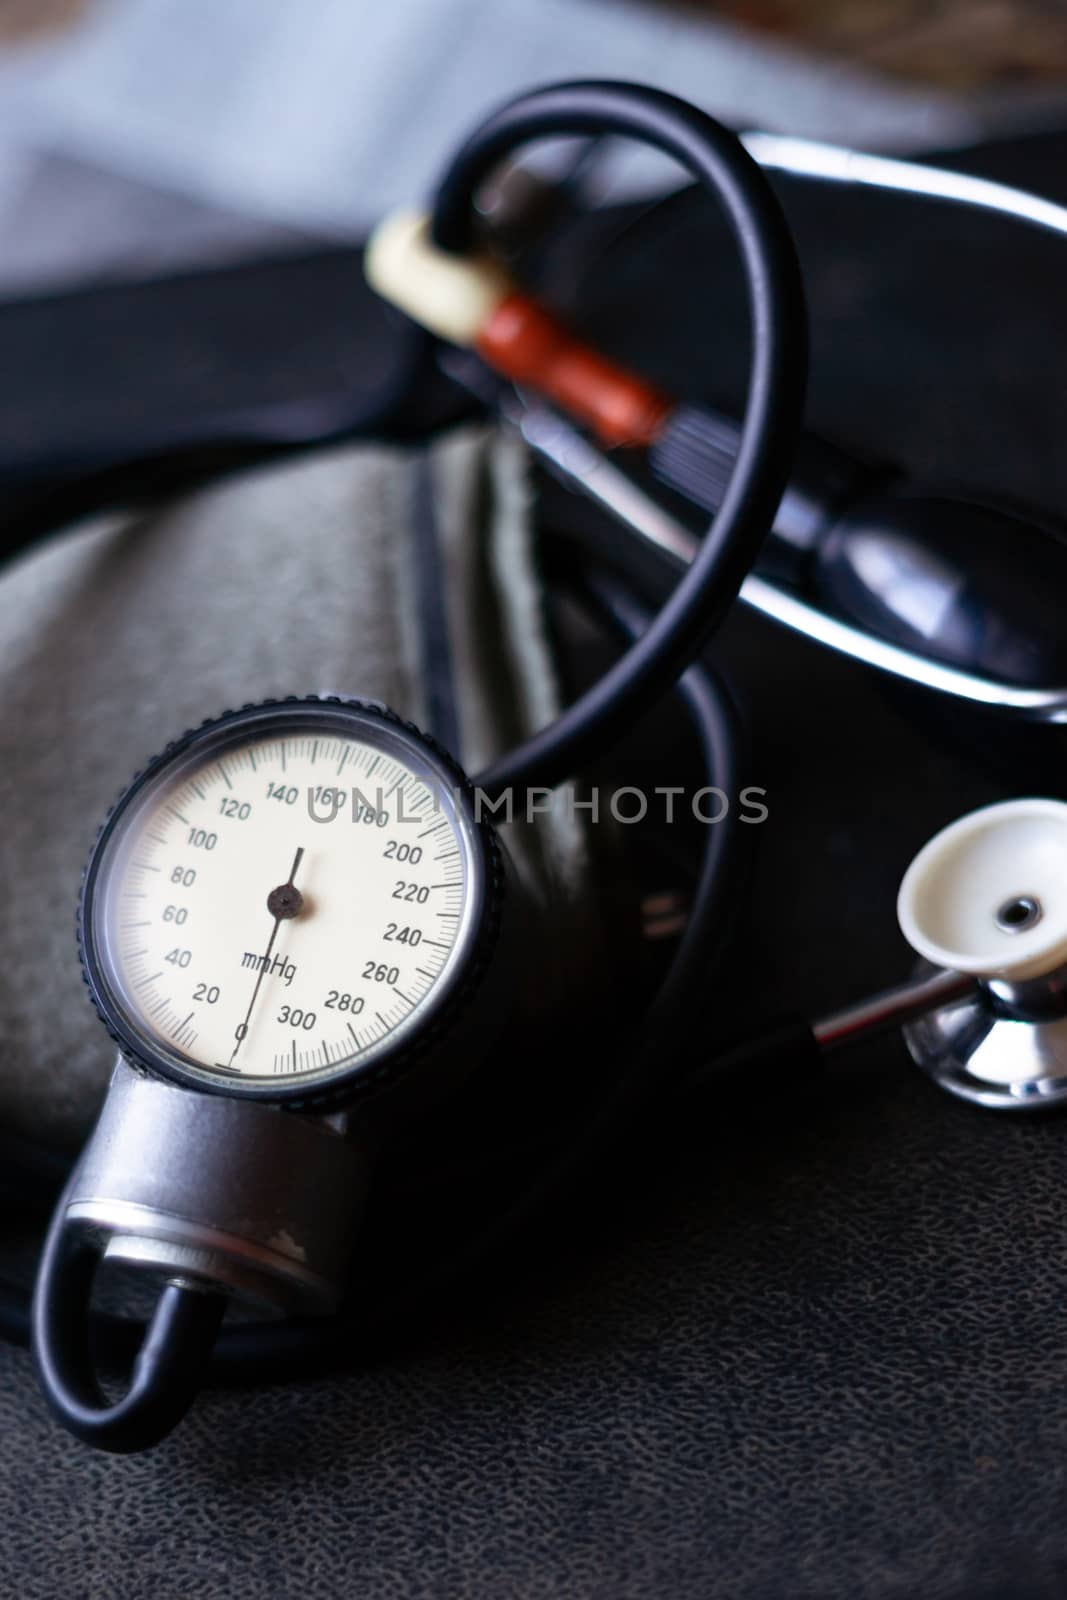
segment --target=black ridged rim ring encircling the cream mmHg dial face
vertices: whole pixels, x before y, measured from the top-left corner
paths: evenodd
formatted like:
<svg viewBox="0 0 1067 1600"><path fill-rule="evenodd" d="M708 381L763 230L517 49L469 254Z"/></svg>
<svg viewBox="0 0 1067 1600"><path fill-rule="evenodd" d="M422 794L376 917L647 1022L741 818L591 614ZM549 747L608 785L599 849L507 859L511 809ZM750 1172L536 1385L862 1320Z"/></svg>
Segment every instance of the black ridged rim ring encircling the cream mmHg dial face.
<svg viewBox="0 0 1067 1600"><path fill-rule="evenodd" d="M339 1061L320 1070L304 1072L288 1082L262 1075L222 1077L218 1070L182 1056L179 1050L168 1048L147 1034L123 997L123 984L117 978L115 962L107 947L107 872L120 859L118 845L125 826L136 821L141 808L182 763L210 758L232 746L269 738L286 728L310 731L314 726L381 746L438 786L446 797L445 803L450 806L464 850L466 891L461 923L434 992L381 1042L360 1051L358 1058L347 1064ZM259 701L213 717L174 739L136 774L109 811L82 878L77 915L82 971L107 1032L136 1067L200 1093L328 1109L350 1102L360 1093L405 1072L453 1027L477 990L493 954L499 931L501 890L496 830L488 818L478 814L474 789L462 768L434 739L374 701L333 696Z"/></svg>

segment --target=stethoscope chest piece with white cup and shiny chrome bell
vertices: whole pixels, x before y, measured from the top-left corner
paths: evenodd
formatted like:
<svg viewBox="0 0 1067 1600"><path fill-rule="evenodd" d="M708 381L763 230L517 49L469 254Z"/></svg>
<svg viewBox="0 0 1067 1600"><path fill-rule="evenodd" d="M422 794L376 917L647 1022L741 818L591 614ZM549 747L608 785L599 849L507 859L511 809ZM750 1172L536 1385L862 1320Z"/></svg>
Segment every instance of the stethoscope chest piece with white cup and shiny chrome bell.
<svg viewBox="0 0 1067 1600"><path fill-rule="evenodd" d="M905 872L897 917L925 971L974 978L904 1029L918 1066L990 1109L1067 1104L1067 805L960 818Z"/></svg>

